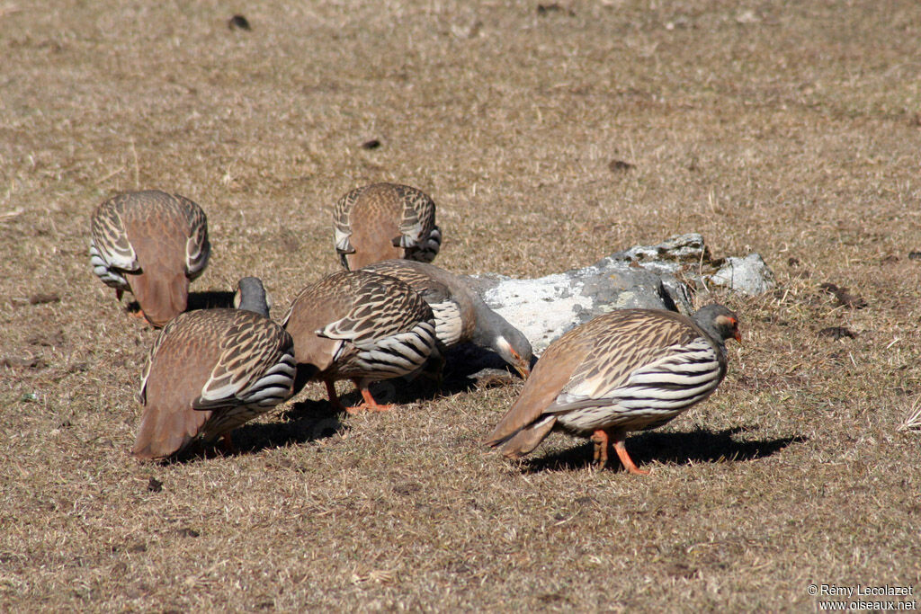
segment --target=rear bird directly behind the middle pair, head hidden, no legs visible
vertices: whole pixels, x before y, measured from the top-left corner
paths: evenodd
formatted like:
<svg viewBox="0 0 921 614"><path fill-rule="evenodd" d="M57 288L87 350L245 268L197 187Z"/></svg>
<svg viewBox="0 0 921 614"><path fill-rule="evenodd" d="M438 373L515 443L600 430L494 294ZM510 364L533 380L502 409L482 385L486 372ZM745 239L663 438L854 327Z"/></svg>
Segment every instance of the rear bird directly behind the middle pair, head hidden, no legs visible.
<svg viewBox="0 0 921 614"><path fill-rule="evenodd" d="M332 231L348 271L391 258L431 262L441 248L435 203L398 183L373 183L345 194L333 209Z"/></svg>

